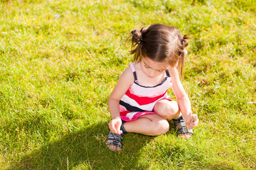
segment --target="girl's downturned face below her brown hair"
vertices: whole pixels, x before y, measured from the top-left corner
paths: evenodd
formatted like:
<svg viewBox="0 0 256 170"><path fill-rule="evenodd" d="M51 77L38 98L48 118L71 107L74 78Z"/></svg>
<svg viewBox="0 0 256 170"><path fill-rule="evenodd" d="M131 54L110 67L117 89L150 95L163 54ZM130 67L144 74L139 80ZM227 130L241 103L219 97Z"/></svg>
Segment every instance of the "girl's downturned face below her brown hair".
<svg viewBox="0 0 256 170"><path fill-rule="evenodd" d="M166 62L156 62L148 57L143 57L140 63L143 73L149 78L163 74L168 67Z"/></svg>

